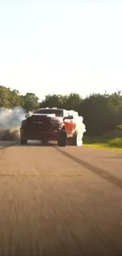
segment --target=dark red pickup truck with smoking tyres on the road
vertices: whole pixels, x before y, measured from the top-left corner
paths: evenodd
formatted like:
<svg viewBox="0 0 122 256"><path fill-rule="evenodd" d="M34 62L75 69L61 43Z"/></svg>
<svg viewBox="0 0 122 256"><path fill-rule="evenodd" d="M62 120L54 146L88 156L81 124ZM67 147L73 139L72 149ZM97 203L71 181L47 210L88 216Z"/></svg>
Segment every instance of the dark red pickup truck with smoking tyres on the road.
<svg viewBox="0 0 122 256"><path fill-rule="evenodd" d="M28 140L41 140L43 144L57 141L59 147L65 147L70 141L72 146L81 146L82 137L76 131L76 121L68 110L43 108L27 114L21 122L20 144Z"/></svg>

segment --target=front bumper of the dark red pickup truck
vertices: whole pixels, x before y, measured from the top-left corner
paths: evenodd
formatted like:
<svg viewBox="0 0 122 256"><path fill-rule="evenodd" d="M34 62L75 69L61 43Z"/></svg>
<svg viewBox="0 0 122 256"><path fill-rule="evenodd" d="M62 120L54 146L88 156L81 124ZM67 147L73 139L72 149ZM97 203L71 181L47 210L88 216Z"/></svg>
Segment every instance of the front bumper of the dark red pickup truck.
<svg viewBox="0 0 122 256"><path fill-rule="evenodd" d="M60 136L61 128L54 128L50 129L48 132L42 132L42 131L32 131L29 129L28 131L24 130L24 128L20 128L20 135L23 136L25 139L28 140L58 140Z"/></svg>

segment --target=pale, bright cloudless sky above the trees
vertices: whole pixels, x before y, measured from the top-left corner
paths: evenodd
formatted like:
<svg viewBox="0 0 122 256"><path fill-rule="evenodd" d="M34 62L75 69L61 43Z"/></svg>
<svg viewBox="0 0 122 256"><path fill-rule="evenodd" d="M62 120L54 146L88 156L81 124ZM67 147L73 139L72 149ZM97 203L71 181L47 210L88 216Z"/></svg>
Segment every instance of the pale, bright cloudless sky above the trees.
<svg viewBox="0 0 122 256"><path fill-rule="evenodd" d="M122 1L0 0L0 85L47 94L122 90Z"/></svg>

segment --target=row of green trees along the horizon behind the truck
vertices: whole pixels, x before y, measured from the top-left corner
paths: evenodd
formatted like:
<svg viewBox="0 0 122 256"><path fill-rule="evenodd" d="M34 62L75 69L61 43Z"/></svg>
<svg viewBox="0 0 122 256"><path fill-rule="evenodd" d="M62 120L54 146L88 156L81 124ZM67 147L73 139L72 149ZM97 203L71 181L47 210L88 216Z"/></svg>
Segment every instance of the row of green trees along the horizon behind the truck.
<svg viewBox="0 0 122 256"><path fill-rule="evenodd" d="M28 92L20 95L19 91L9 87L0 86L0 106L6 109L14 109L21 106L26 112L43 107L57 107L73 109L83 116L87 127L87 135L107 134L122 131L122 93L114 92L92 94L86 98L71 93L69 95L46 95L39 102L37 95ZM117 129L117 130L116 130Z"/></svg>

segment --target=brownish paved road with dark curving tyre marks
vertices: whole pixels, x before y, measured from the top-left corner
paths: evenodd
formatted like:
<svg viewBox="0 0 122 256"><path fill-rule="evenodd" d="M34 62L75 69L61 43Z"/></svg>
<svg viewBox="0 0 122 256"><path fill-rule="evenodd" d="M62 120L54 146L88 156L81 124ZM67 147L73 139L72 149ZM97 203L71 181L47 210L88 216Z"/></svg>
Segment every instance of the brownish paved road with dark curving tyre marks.
<svg viewBox="0 0 122 256"><path fill-rule="evenodd" d="M122 154L0 145L0 255L122 255Z"/></svg>

